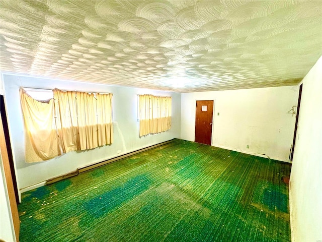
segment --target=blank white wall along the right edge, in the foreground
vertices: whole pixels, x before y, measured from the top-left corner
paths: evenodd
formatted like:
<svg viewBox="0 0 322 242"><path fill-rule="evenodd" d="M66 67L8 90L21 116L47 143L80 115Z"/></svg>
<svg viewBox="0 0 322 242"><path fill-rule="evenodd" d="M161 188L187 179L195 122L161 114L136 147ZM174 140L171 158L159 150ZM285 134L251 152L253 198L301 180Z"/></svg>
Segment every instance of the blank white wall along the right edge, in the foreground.
<svg viewBox="0 0 322 242"><path fill-rule="evenodd" d="M302 81L290 178L292 240L322 240L322 57Z"/></svg>

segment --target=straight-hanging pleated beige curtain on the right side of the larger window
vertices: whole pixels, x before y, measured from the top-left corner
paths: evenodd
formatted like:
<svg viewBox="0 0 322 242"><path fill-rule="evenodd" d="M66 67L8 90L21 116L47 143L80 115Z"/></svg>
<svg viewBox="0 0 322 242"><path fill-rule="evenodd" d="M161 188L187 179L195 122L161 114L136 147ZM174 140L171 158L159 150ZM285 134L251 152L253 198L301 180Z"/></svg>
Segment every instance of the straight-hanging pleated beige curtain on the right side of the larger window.
<svg viewBox="0 0 322 242"><path fill-rule="evenodd" d="M93 149L113 142L112 93L53 91L55 110L62 121L58 133L61 132L59 138L65 152Z"/></svg>

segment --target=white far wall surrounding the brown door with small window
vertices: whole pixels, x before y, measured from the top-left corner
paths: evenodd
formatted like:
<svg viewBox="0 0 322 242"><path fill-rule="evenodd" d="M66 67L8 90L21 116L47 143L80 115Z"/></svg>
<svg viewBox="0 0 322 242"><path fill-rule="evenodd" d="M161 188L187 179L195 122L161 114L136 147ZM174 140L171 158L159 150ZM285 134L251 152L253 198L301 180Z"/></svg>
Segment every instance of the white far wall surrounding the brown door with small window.
<svg viewBox="0 0 322 242"><path fill-rule="evenodd" d="M196 100L215 100L212 146L288 161L297 95L296 86L183 93L181 139L195 139Z"/></svg>

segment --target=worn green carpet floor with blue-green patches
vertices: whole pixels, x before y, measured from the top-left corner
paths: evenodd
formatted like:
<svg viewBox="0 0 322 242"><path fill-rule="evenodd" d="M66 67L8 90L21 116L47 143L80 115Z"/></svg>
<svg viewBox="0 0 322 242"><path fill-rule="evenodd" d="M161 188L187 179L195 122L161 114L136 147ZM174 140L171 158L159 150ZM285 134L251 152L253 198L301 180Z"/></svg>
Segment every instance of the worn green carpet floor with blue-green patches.
<svg viewBox="0 0 322 242"><path fill-rule="evenodd" d="M175 140L24 193L20 241L290 241L290 169Z"/></svg>

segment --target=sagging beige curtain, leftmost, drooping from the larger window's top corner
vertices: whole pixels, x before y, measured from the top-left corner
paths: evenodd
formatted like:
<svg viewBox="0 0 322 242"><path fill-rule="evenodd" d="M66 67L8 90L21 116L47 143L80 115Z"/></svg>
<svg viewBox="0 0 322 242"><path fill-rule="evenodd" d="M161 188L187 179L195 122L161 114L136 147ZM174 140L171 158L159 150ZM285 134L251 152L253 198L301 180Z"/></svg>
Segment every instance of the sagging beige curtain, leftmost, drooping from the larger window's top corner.
<svg viewBox="0 0 322 242"><path fill-rule="evenodd" d="M61 155L54 118L54 101L40 102L20 89L25 125L26 162L38 162Z"/></svg>

